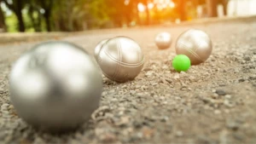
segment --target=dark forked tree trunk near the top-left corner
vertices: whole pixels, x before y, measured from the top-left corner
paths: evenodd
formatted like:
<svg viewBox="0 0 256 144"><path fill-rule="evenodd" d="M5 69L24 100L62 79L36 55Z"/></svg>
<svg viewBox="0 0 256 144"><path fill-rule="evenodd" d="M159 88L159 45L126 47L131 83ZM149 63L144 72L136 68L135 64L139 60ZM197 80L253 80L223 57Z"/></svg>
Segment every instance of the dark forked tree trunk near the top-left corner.
<svg viewBox="0 0 256 144"><path fill-rule="evenodd" d="M25 24L22 17L22 9L24 9L26 5L26 0L2 0L3 3L6 4L6 6L12 10L18 21L19 21L19 31L25 32Z"/></svg>

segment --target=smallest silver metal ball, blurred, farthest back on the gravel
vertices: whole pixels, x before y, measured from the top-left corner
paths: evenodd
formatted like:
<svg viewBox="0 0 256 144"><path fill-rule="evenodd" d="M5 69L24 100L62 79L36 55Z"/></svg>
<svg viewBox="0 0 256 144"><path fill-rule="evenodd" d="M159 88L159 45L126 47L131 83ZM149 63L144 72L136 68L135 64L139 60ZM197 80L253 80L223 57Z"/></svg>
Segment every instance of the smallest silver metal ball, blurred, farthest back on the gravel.
<svg viewBox="0 0 256 144"><path fill-rule="evenodd" d="M154 38L154 42L158 49L168 49L172 44L172 36L168 32L160 32Z"/></svg>

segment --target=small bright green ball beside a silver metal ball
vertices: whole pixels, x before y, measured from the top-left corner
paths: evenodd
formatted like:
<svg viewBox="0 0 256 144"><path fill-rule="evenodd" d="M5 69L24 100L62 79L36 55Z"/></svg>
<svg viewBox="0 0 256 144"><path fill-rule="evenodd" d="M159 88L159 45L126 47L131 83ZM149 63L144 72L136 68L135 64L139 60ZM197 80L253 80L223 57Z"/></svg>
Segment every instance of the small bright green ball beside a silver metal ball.
<svg viewBox="0 0 256 144"><path fill-rule="evenodd" d="M172 60L172 66L177 72L186 72L189 70L191 62L187 55L176 55Z"/></svg>

